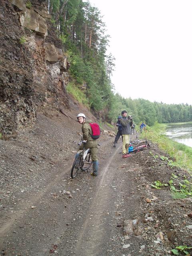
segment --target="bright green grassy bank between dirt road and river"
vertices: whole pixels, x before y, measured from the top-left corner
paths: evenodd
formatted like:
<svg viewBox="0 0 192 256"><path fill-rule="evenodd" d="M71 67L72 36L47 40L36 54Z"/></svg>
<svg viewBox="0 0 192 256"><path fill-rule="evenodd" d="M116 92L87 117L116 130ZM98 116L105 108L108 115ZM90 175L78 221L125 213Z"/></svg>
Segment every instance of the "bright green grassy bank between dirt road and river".
<svg viewBox="0 0 192 256"><path fill-rule="evenodd" d="M146 137L158 144L169 156L175 159L174 165L188 170L192 174L192 148L182 143L175 142L165 135L166 124L156 123L152 127L147 127L149 132L142 133L141 138Z"/></svg>

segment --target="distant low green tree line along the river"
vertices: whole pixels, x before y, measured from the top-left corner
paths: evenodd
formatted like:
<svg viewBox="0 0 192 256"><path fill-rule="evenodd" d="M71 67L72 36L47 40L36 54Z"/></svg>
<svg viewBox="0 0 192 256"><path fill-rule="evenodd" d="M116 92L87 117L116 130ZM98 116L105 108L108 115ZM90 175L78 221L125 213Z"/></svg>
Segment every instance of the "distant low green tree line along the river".
<svg viewBox="0 0 192 256"><path fill-rule="evenodd" d="M162 102L150 102L144 99L123 98L119 94L115 95L114 109L121 113L122 109L128 111L133 116L136 124L142 121L149 126L158 123L175 123L192 121L192 105L188 104L164 104Z"/></svg>

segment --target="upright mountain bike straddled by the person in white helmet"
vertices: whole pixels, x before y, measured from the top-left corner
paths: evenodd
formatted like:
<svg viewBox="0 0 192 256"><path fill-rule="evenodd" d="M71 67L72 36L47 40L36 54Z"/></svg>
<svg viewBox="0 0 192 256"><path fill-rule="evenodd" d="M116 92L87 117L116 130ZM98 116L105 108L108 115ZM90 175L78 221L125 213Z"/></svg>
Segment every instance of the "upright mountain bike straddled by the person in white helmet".
<svg viewBox="0 0 192 256"><path fill-rule="evenodd" d="M80 146L84 142L79 142L78 146ZM85 143L84 143L85 144ZM83 149L78 151L78 156L75 158L72 169L71 169L71 178L74 179L79 170L86 171L88 170L92 164L93 161L91 160L91 152L90 148L88 149Z"/></svg>

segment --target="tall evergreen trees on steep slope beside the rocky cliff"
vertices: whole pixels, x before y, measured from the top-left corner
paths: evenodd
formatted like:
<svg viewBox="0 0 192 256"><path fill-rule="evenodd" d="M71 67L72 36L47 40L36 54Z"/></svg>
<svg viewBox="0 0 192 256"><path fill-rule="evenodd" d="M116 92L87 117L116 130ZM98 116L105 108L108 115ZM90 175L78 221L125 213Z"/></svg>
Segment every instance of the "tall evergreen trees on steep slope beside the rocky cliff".
<svg viewBox="0 0 192 256"><path fill-rule="evenodd" d="M86 83L89 107L98 114L108 111L113 97L114 57L106 54L109 36L100 11L82 0L49 0L47 4L70 61L74 90Z"/></svg>

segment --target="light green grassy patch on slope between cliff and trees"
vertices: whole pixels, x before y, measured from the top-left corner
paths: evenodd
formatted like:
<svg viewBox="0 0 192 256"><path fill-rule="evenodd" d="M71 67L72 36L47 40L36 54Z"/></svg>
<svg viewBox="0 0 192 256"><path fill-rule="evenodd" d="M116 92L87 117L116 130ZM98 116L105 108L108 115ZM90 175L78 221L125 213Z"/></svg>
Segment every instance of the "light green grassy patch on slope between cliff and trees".
<svg viewBox="0 0 192 256"><path fill-rule="evenodd" d="M85 92L80 90L73 82L68 83L66 89L69 94L71 94L76 100L78 100L78 102L84 104L86 107L89 108L89 102Z"/></svg>

